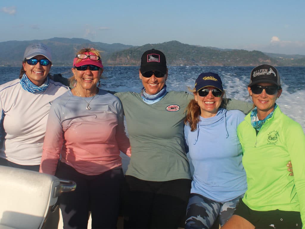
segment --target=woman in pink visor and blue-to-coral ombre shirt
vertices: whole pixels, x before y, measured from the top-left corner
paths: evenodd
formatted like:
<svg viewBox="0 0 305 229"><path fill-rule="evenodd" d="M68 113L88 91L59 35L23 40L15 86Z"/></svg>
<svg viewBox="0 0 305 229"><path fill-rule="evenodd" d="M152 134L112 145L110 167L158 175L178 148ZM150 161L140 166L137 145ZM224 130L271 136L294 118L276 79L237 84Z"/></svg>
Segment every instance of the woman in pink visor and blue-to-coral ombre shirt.
<svg viewBox="0 0 305 229"><path fill-rule="evenodd" d="M74 88L53 101L40 172L76 182L59 196L64 228L116 228L124 181L120 151L130 156L120 100L99 89L98 50L81 49L73 62ZM59 161L59 165L57 167Z"/></svg>

